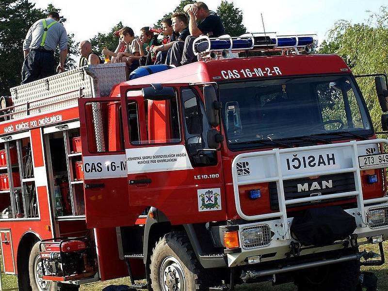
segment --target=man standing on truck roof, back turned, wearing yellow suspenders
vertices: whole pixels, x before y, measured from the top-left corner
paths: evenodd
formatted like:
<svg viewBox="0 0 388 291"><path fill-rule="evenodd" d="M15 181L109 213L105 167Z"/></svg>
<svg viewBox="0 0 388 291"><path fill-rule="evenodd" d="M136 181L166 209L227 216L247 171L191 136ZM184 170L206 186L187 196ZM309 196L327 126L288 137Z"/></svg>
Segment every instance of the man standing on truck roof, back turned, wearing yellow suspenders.
<svg viewBox="0 0 388 291"><path fill-rule="evenodd" d="M61 53L56 71L65 71L67 33L58 21L59 14L50 12L46 19L39 19L28 30L23 42L22 84L55 74L54 51L58 45Z"/></svg>

